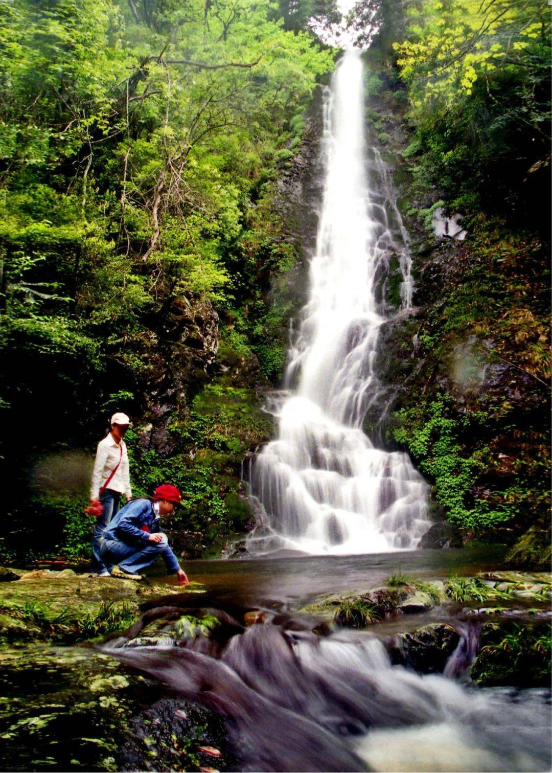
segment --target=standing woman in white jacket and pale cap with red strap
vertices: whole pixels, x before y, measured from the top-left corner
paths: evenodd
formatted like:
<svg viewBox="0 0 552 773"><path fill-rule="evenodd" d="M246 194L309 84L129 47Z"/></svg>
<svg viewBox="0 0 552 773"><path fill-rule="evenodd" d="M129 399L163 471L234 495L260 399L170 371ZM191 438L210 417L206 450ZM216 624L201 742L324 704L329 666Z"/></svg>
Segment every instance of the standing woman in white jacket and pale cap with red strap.
<svg viewBox="0 0 552 773"><path fill-rule="evenodd" d="M128 454L124 434L130 419L126 414L113 414L111 432L97 444L96 461L90 486L90 506L100 500L101 516L97 517L92 537L92 572L98 577L109 577L111 566L107 567L100 553L100 537L119 509L119 499L124 494L131 499L131 482L128 472Z"/></svg>

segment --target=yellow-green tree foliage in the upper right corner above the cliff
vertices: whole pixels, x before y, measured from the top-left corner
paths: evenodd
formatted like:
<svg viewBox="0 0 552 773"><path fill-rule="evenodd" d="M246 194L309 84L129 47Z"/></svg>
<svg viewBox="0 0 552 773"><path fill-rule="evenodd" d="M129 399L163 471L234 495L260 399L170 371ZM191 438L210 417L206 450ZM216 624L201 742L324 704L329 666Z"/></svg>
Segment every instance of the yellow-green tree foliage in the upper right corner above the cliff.
<svg viewBox="0 0 552 773"><path fill-rule="evenodd" d="M416 135L403 155L417 156L421 188L444 189L473 213L506 199L538 227L550 141L546 4L423 0L404 22L394 49Z"/></svg>

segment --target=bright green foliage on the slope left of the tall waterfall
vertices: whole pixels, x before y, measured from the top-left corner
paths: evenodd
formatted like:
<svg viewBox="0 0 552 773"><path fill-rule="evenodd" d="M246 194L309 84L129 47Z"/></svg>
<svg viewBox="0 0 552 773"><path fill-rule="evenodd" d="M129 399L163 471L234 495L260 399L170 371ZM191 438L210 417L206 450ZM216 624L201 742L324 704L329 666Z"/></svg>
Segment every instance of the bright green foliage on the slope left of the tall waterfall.
<svg viewBox="0 0 552 773"><path fill-rule="evenodd" d="M2 477L26 491L6 503L26 557L87 556L93 525L84 499L31 490L32 455L89 447L114 410L137 419L167 363L182 373L169 390L175 454L137 452L136 492L182 488L175 526L187 524L193 550L247 520L237 470L266 422L249 387L213 396L206 421L211 395L188 410L208 364L194 325L212 321L216 344L216 309L218 363L244 369L257 352L278 380L289 307L266 295L298 255L276 181L333 67L307 19L334 12L271 0L2 4L0 405L15 438ZM21 416L33 417L32 454Z"/></svg>

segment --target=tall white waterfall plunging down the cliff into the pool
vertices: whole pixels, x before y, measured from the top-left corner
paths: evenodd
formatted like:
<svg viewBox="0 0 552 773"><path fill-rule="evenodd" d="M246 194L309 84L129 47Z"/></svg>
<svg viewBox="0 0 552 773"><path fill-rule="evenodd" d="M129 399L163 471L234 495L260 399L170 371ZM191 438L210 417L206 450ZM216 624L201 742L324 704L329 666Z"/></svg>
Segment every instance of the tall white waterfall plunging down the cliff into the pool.
<svg viewBox="0 0 552 773"><path fill-rule="evenodd" d="M324 200L287 390L273 400L278 438L251 472L265 516L253 552L382 553L415 547L430 526L428 487L408 456L374 448L362 429L381 391L374 360L392 254L403 308L412 295L407 233L387 167L365 147L363 111L363 63L350 50L325 93Z"/></svg>

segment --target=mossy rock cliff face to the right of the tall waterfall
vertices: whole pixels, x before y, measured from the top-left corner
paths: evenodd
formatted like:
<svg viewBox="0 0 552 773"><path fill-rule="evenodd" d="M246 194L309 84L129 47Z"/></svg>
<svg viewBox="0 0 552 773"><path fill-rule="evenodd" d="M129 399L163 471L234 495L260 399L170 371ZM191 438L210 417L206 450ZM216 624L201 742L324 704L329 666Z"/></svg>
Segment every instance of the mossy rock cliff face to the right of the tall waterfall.
<svg viewBox="0 0 552 773"><path fill-rule="evenodd" d="M537 237L512 233L507 218L481 215L465 240L435 235L440 192L417 185L415 161L402 155L404 98L386 85L370 104L369 124L384 129L412 238L415 291L414 308L400 311L392 265L377 363L388 389L366 431L411 453L433 484L435 518L458 526L464 541L512 545L532 526L527 550L513 556L547 563L546 249Z"/></svg>

